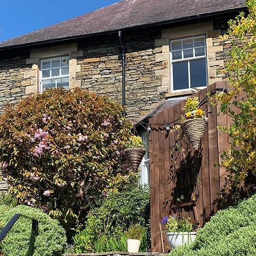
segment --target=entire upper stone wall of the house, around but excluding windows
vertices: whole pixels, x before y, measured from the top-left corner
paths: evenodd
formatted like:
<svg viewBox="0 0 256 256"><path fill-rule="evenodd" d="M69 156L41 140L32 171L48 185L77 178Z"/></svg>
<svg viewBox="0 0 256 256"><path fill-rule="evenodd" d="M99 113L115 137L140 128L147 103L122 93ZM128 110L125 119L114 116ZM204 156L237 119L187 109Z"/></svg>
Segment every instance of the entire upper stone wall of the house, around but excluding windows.
<svg viewBox="0 0 256 256"><path fill-rule="evenodd" d="M127 31L123 35L127 50L127 117L138 122L166 97L191 93L170 92L171 39L205 35L208 84L226 79L224 64L231 44L220 39L220 34L221 28L214 26L213 21ZM114 100L122 101L122 61L116 33L59 46L5 51L0 56L0 109L6 102L16 104L27 94L39 92L41 59L65 55L69 56L69 88L81 86L82 89L109 94Z"/></svg>

